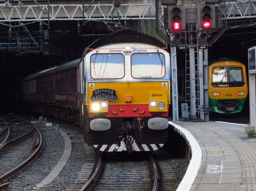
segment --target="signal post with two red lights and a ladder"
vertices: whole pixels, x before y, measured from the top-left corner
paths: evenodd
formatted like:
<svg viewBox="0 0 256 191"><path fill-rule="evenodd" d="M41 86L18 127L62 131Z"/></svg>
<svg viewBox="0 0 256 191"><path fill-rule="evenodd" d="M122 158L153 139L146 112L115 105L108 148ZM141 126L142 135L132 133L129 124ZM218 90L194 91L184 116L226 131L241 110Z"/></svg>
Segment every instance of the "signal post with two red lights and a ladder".
<svg viewBox="0 0 256 191"><path fill-rule="evenodd" d="M189 111L186 117L193 120L209 121L207 48L226 30L226 25L219 27L219 3L218 0L156 0L156 9L162 7L164 16L164 31L161 31L161 16L156 14L157 33L171 46L171 51L178 48L186 52L185 105ZM177 60L173 57L171 60L176 66ZM178 85L172 83L172 86Z"/></svg>

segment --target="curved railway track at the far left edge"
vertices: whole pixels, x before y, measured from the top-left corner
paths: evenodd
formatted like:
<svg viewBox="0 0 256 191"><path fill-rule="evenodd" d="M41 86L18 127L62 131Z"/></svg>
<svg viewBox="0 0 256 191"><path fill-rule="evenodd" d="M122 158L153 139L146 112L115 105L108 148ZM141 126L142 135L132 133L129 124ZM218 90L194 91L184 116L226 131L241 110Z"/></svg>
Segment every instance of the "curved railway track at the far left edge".
<svg viewBox="0 0 256 191"><path fill-rule="evenodd" d="M15 119L21 120L21 119ZM22 168L38 154L42 144L42 135L37 127L22 119L21 124L8 124L8 133L0 144L0 163L9 164L0 169L0 187L7 186L8 181L15 177ZM1 133L2 134L2 133ZM28 149L30 148L30 149Z"/></svg>

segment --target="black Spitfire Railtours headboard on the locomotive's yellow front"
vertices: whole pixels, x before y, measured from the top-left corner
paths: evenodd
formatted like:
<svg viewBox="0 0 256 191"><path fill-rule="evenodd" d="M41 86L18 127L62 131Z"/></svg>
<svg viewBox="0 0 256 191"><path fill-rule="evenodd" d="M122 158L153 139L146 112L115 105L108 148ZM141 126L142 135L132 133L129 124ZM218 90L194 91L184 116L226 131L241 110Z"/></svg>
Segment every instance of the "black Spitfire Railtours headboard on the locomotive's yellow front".
<svg viewBox="0 0 256 191"><path fill-rule="evenodd" d="M100 99L117 101L118 96L116 95L116 90L107 88L93 90L93 95L91 95L91 101L96 101Z"/></svg>

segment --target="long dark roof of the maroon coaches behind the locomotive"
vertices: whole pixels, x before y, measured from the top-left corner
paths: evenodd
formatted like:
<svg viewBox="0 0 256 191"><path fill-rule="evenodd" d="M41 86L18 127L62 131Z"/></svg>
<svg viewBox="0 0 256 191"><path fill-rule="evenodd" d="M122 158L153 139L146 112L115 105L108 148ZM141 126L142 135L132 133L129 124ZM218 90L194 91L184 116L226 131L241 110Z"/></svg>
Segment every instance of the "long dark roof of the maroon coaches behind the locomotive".
<svg viewBox="0 0 256 191"><path fill-rule="evenodd" d="M65 70L70 67L77 66L79 63L80 63L80 58L73 60L73 61L68 61L67 63L63 63L59 66L54 66L54 67L51 67L51 68L48 68L45 70L41 70L40 72L37 72L35 74L31 74L28 77L23 78L22 81L30 80L30 79L33 79L36 77L41 77L42 75L52 74L54 72L59 72L61 70Z"/></svg>

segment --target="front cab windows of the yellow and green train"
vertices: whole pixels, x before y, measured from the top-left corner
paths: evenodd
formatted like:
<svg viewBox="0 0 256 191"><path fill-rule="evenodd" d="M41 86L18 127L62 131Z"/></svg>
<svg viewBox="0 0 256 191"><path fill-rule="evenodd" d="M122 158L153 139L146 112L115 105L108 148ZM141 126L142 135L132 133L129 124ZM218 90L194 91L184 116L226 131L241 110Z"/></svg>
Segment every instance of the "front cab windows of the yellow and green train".
<svg viewBox="0 0 256 191"><path fill-rule="evenodd" d="M212 70L213 87L241 87L244 84L242 67L214 67Z"/></svg>

